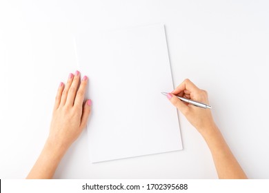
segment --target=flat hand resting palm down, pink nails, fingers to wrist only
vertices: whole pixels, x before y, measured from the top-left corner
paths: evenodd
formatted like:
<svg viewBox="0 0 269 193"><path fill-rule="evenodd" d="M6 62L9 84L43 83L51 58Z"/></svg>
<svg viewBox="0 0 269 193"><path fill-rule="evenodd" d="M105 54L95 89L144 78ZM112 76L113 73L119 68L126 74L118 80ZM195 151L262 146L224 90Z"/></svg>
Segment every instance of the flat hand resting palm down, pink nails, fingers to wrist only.
<svg viewBox="0 0 269 193"><path fill-rule="evenodd" d="M70 73L66 86L60 83L55 99L48 141L67 149L85 128L92 101L83 104L88 78Z"/></svg>

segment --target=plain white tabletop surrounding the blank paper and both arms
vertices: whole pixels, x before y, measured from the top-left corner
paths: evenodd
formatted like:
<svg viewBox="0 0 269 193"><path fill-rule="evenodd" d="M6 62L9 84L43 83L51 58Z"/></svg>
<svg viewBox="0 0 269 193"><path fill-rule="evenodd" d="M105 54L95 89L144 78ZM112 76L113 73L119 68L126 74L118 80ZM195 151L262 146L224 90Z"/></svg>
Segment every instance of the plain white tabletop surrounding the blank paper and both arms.
<svg viewBox="0 0 269 193"><path fill-rule="evenodd" d="M41 152L59 82L76 70L72 37L88 22L100 30L165 23L175 86L190 78L208 90L246 174L268 179L268 3L0 1L0 178L24 178ZM54 177L217 178L206 143L181 114L179 121L182 151L106 163L88 161L83 132Z"/></svg>

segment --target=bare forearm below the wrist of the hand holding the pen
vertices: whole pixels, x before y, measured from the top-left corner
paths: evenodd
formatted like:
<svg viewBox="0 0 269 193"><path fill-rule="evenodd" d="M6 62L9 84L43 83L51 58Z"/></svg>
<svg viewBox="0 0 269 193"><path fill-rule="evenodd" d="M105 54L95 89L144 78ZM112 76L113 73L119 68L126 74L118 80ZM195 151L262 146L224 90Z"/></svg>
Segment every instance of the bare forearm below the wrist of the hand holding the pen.
<svg viewBox="0 0 269 193"><path fill-rule="evenodd" d="M212 154L219 179L247 179L217 126L213 124L207 131L202 136Z"/></svg>

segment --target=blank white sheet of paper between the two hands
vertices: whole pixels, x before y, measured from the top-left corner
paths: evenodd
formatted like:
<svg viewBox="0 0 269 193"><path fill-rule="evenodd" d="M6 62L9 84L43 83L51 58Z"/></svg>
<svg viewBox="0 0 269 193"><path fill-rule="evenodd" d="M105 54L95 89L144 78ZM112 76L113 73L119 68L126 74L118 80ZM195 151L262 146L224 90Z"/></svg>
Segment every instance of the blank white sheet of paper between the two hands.
<svg viewBox="0 0 269 193"><path fill-rule="evenodd" d="M76 45L92 99L92 163L182 149L177 110L161 94L173 90L163 25L89 30Z"/></svg>

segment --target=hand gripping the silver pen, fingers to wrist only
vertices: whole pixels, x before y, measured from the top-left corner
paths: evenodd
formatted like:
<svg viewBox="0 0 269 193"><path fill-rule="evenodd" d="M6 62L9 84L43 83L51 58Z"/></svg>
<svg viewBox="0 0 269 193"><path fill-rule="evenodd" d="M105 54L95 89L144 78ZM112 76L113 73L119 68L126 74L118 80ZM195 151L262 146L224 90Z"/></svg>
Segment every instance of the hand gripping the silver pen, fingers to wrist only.
<svg viewBox="0 0 269 193"><path fill-rule="evenodd" d="M183 102L175 95L209 104L208 94L205 90L200 90L189 79L186 79L174 91L172 91L171 94L168 94L167 97L201 134L204 134L206 130L215 125L209 109L198 108L195 105Z"/></svg>

